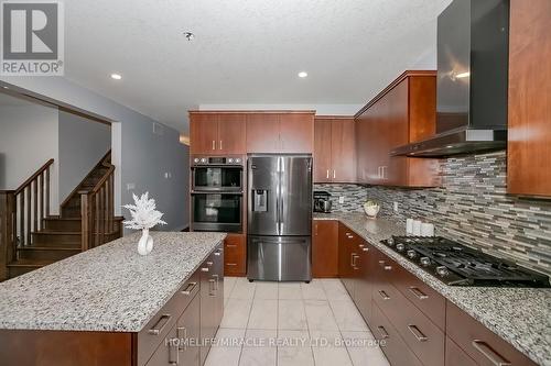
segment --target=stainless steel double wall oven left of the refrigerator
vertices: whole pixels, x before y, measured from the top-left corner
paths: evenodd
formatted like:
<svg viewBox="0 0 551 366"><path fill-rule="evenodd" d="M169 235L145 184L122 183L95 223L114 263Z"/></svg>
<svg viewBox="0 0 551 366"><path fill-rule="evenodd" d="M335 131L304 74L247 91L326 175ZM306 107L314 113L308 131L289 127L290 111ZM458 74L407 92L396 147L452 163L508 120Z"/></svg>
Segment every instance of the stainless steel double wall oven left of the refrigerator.
<svg viewBox="0 0 551 366"><path fill-rule="evenodd" d="M192 230L242 232L241 156L192 158Z"/></svg>

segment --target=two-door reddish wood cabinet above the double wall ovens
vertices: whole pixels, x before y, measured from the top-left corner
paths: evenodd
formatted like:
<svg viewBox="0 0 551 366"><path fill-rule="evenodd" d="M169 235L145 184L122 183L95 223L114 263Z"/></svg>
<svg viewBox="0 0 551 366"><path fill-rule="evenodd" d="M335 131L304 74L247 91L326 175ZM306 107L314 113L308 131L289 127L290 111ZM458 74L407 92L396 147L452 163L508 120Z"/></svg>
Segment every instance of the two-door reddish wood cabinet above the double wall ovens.
<svg viewBox="0 0 551 366"><path fill-rule="evenodd" d="M190 112L191 154L245 154L246 115L234 112Z"/></svg>

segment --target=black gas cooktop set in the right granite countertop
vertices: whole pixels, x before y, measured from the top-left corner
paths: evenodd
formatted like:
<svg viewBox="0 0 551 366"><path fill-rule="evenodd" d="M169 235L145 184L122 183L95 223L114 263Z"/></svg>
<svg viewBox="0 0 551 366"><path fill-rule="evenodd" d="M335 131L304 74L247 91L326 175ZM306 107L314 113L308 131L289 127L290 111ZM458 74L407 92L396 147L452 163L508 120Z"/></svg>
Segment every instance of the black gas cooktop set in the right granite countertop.
<svg viewBox="0 0 551 366"><path fill-rule="evenodd" d="M381 243L446 285L551 287L545 275L445 237L392 236Z"/></svg>

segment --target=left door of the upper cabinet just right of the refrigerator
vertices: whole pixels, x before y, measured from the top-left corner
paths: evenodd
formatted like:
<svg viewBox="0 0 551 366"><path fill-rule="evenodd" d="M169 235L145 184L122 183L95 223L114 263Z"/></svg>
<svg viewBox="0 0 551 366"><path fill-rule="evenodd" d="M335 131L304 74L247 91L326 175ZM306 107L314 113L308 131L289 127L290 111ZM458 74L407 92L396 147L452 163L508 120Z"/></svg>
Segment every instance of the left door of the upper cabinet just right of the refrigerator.
<svg viewBox="0 0 551 366"><path fill-rule="evenodd" d="M333 120L315 119L314 122L314 181L332 181L332 135Z"/></svg>

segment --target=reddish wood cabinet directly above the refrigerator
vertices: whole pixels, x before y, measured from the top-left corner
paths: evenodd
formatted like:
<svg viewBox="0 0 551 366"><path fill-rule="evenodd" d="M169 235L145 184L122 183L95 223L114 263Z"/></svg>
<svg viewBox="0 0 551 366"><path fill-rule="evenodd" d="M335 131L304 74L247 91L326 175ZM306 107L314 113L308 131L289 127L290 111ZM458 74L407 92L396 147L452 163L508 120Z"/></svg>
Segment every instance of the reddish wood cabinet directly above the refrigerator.
<svg viewBox="0 0 551 366"><path fill-rule="evenodd" d="M314 111L247 114L247 153L312 154Z"/></svg>

